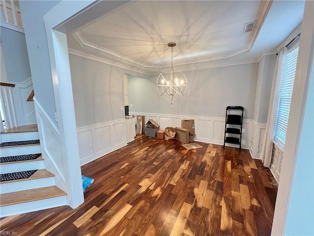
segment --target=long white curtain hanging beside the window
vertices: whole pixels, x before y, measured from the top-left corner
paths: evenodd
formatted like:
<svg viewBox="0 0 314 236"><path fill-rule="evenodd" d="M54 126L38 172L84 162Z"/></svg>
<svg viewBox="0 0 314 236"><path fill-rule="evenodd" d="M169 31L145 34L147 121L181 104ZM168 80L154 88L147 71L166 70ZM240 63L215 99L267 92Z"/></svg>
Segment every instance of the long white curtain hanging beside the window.
<svg viewBox="0 0 314 236"><path fill-rule="evenodd" d="M270 166L271 153L273 148L273 139L276 129L276 121L278 115L280 88L283 81L285 60L287 56L287 48L284 47L279 53L276 61L274 79L271 87L269 109L266 130L263 139L261 159L265 167Z"/></svg>

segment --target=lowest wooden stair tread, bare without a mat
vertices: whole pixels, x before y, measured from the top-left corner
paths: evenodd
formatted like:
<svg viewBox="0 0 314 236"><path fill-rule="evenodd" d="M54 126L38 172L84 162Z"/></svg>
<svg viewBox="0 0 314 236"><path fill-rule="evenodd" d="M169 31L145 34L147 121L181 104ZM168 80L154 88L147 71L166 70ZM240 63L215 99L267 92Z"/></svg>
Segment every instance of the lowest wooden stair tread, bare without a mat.
<svg viewBox="0 0 314 236"><path fill-rule="evenodd" d="M67 195L67 193L57 186L28 189L12 193L3 193L0 194L0 207L61 197L65 195Z"/></svg>

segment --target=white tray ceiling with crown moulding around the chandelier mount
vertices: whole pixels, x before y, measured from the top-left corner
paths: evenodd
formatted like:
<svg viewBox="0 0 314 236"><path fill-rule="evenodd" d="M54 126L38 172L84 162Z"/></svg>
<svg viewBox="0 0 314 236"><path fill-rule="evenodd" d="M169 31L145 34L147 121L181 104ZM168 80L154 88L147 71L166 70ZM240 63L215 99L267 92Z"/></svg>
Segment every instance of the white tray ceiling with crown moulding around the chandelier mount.
<svg viewBox="0 0 314 236"><path fill-rule="evenodd" d="M270 7L269 7L270 6ZM171 64L256 60L303 18L304 1L131 1L69 36L69 48L145 73ZM244 24L257 21L252 32ZM157 72L158 73L158 72Z"/></svg>

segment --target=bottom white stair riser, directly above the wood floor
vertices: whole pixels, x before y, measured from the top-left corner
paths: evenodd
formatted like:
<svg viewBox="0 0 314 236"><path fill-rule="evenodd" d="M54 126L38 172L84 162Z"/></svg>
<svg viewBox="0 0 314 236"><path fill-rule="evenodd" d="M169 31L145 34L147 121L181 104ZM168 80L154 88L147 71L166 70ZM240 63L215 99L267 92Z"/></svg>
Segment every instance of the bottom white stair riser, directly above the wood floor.
<svg viewBox="0 0 314 236"><path fill-rule="evenodd" d="M66 196L0 207L0 217L67 205Z"/></svg>

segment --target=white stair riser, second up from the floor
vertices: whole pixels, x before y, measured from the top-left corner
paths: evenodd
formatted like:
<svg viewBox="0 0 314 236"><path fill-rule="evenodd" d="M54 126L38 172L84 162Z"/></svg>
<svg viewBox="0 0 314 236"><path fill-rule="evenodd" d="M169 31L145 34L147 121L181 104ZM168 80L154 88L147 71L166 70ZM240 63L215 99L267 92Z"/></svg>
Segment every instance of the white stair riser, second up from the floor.
<svg viewBox="0 0 314 236"><path fill-rule="evenodd" d="M38 178L38 179L12 182L12 183L3 182L0 185L0 194L23 191L27 189L48 187L54 184L55 184L54 177Z"/></svg>

